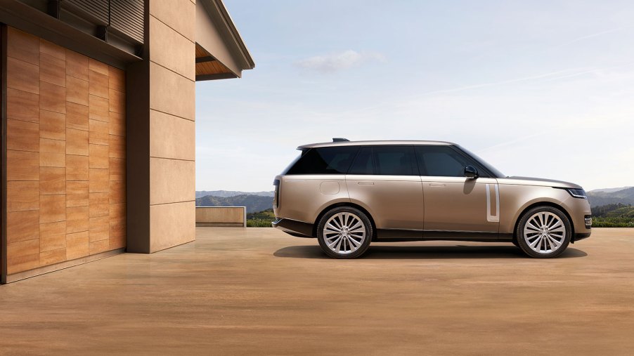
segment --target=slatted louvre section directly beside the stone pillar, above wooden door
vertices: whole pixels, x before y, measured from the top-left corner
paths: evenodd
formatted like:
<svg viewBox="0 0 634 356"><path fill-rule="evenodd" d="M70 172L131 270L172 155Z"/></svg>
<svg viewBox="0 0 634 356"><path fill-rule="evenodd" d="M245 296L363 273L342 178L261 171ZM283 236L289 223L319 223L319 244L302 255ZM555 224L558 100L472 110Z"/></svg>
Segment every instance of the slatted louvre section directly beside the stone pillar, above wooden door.
<svg viewBox="0 0 634 356"><path fill-rule="evenodd" d="M143 0L111 0L110 26L143 43Z"/></svg>

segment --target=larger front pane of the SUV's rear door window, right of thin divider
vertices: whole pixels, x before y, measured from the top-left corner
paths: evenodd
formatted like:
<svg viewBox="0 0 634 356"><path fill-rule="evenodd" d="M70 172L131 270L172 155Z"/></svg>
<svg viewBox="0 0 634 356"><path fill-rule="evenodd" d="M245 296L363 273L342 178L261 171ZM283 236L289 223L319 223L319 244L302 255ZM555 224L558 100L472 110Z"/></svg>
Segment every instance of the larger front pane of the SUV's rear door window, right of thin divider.
<svg viewBox="0 0 634 356"><path fill-rule="evenodd" d="M373 147L375 174L418 176L412 146Z"/></svg>

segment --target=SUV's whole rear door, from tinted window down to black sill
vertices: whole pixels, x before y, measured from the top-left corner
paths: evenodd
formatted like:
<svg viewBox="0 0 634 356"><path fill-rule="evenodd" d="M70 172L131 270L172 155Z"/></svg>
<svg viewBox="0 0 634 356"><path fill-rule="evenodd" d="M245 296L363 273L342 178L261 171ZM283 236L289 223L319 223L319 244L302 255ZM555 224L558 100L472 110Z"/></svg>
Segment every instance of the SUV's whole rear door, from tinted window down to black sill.
<svg viewBox="0 0 634 356"><path fill-rule="evenodd" d="M346 184L351 201L370 212L380 238L422 237L424 205L413 146L362 147Z"/></svg>

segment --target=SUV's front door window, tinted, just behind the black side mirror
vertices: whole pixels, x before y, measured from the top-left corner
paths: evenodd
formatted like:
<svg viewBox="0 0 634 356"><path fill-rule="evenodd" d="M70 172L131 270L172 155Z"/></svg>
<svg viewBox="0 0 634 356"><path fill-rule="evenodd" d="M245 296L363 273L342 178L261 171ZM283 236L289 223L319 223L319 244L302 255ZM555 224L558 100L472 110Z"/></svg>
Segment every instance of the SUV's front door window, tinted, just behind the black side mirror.
<svg viewBox="0 0 634 356"><path fill-rule="evenodd" d="M422 176L462 177L465 166L476 166L448 146L418 146L414 150Z"/></svg>

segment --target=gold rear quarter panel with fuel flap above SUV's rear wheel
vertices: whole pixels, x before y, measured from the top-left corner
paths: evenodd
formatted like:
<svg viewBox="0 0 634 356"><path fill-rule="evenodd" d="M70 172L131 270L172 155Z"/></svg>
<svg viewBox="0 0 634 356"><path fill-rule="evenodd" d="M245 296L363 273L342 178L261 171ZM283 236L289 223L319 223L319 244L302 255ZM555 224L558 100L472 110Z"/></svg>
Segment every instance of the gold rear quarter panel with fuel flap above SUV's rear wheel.
<svg viewBox="0 0 634 356"><path fill-rule="evenodd" d="M288 175L278 179L280 202L274 210L278 217L312 224L325 207L350 202L344 175Z"/></svg>

